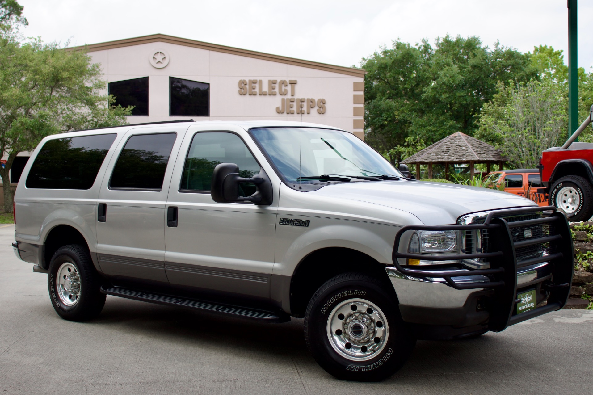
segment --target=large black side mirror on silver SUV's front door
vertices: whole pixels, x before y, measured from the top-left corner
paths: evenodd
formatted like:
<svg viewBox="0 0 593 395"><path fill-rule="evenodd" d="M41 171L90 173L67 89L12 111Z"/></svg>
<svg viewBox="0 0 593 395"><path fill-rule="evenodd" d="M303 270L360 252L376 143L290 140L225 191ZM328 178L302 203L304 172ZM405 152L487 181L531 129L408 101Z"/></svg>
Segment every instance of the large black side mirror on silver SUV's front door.
<svg viewBox="0 0 593 395"><path fill-rule="evenodd" d="M254 183L256 193L251 196L239 196L240 183ZM259 174L249 179L239 176L239 167L234 163L221 163L212 174L212 200L216 203L253 202L256 205L272 204L272 181L262 169Z"/></svg>

